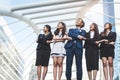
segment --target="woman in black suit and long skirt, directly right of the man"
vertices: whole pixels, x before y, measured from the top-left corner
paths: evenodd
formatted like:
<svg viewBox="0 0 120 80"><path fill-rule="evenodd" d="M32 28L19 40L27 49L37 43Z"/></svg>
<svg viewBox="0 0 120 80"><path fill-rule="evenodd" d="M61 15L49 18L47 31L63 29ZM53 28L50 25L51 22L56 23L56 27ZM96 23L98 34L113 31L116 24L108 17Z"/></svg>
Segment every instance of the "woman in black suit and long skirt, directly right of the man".
<svg viewBox="0 0 120 80"><path fill-rule="evenodd" d="M90 31L86 33L84 45L89 80L96 80L97 71L99 69L99 39L98 26L96 23L92 23L90 25Z"/></svg>

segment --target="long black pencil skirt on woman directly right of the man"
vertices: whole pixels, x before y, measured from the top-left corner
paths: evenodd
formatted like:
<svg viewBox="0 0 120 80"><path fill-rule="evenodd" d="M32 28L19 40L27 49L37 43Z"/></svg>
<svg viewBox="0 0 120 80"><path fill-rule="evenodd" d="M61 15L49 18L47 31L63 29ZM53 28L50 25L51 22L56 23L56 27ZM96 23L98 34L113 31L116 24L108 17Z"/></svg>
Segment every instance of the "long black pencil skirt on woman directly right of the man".
<svg viewBox="0 0 120 80"><path fill-rule="evenodd" d="M87 71L99 70L99 50L87 48L85 50Z"/></svg>

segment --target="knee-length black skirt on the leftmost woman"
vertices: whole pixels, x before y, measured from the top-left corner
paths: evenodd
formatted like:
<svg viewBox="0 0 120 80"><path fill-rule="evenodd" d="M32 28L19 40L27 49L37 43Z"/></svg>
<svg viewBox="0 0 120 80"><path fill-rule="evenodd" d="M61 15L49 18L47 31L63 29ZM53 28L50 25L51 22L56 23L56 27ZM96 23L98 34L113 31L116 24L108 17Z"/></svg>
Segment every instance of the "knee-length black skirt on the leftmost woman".
<svg viewBox="0 0 120 80"><path fill-rule="evenodd" d="M48 66L50 50L39 49L36 53L36 66Z"/></svg>

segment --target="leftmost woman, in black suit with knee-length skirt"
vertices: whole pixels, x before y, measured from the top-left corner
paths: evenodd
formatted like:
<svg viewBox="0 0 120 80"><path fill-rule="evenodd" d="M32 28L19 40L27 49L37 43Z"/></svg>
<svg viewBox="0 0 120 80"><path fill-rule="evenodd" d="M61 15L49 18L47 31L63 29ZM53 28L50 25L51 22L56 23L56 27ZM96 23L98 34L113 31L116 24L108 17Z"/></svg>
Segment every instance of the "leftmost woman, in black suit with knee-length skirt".
<svg viewBox="0 0 120 80"><path fill-rule="evenodd" d="M49 58L50 58L50 42L53 38L51 33L51 27L49 25L45 25L44 34L40 34L37 39L37 55L36 55L36 66L37 66L37 75L38 80L44 80L47 70L48 70L48 64L49 64ZM41 68L44 67L42 79L41 79Z"/></svg>

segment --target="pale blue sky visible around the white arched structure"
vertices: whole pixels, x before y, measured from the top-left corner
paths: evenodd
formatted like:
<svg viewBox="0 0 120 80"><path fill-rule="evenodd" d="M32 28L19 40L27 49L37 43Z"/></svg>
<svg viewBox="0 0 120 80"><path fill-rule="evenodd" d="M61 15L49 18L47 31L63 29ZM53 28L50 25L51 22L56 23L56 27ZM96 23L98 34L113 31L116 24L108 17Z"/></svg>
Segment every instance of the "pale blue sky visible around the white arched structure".
<svg viewBox="0 0 120 80"><path fill-rule="evenodd" d="M9 7L17 6L17 5L23 5L23 4L33 3L33 2L42 2L42 1L45 1L45 0L0 0L0 6L6 5L6 8L9 8ZM116 1L119 1L119 0L116 0ZM115 15L116 17L120 18L120 15L119 15L120 10L118 10L118 7L120 7L120 5L116 5L115 11L117 11L117 13L115 13ZM90 10L95 11L95 12L100 12L100 13L103 12L101 4L92 7ZM72 16L72 14L69 16ZM85 14L85 16L88 19L91 19L91 21L88 20L87 18L84 19L86 22L85 27L87 28L87 30L89 30L89 25L92 22L96 22L98 24L100 32L103 30L103 16L102 15L89 11L88 13ZM59 18L59 17L54 17L54 18ZM33 29L31 27L28 27L28 25L23 21L19 21L18 19L10 18L10 17L4 17L4 19L8 23L17 21L16 23L9 25L9 27L11 31L13 32L13 36L15 36L16 41L18 42L16 46L19 47L21 51L21 56L25 60L24 76L26 76L26 73L29 73L31 69L30 65L34 64L34 62L31 63L31 61L33 60L33 58L35 58L35 55L36 55L35 50L36 50L37 44L35 43L35 41L37 39L37 35L34 33ZM116 22L119 23L116 26L116 30L117 32L120 32L120 21L116 19ZM66 23L70 23L70 22L68 21ZM40 26L43 26L43 25L40 25ZM50 25L52 27L56 27L57 23L51 23ZM25 80L28 80L28 75Z"/></svg>

